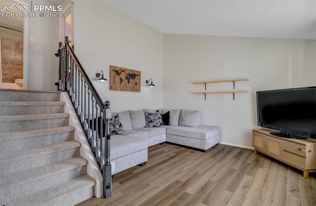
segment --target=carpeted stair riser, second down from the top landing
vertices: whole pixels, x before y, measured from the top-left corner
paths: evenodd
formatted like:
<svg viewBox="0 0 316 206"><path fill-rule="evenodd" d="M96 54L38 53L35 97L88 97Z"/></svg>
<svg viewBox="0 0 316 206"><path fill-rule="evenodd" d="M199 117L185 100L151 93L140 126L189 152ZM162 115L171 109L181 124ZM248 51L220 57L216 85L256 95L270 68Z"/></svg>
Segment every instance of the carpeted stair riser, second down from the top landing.
<svg viewBox="0 0 316 206"><path fill-rule="evenodd" d="M53 106L2 106L0 116L8 115L40 115L64 113L63 105Z"/></svg>

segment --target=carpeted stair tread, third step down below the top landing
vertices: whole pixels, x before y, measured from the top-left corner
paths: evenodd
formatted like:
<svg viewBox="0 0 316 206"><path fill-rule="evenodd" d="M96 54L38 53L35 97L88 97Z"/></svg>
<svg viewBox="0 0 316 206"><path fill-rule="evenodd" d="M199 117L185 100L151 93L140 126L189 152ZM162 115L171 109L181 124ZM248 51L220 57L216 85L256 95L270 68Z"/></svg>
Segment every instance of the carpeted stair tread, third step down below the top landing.
<svg viewBox="0 0 316 206"><path fill-rule="evenodd" d="M73 132L75 127L73 126L61 126L61 127L51 127L46 129L36 129L36 130L24 130L16 132L4 132L0 134L0 142L9 139L22 139L43 135L51 135L56 133Z"/></svg>

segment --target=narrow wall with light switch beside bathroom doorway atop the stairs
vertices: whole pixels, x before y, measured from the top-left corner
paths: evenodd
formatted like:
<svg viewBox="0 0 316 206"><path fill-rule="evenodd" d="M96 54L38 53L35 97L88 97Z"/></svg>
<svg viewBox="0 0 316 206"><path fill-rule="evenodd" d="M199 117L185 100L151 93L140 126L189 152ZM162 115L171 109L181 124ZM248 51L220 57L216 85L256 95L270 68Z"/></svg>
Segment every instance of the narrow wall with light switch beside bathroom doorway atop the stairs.
<svg viewBox="0 0 316 206"><path fill-rule="evenodd" d="M31 2L28 2L31 5ZM47 0L33 0L33 5L55 5ZM30 41L34 36L34 42ZM54 56L58 49L59 18L29 18L29 68L28 89L56 90L58 81L58 58Z"/></svg>

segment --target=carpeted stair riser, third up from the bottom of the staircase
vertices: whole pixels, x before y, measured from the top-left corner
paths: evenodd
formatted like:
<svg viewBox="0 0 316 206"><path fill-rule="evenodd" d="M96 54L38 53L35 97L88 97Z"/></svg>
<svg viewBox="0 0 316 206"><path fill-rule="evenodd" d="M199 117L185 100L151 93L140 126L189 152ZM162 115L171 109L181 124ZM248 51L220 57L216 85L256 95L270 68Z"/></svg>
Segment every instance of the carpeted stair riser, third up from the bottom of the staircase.
<svg viewBox="0 0 316 206"><path fill-rule="evenodd" d="M31 156L25 159L15 159L12 157L12 160L9 162L0 162L0 175L40 167L78 156L80 156L80 147Z"/></svg>

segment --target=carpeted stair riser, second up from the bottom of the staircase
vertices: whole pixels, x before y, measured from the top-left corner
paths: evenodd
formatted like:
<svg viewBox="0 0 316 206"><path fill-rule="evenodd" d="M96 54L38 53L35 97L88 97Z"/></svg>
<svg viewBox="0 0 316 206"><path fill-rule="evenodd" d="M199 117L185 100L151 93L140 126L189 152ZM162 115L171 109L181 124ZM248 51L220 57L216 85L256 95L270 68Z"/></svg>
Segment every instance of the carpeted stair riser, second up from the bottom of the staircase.
<svg viewBox="0 0 316 206"><path fill-rule="evenodd" d="M38 192L43 189L70 181L77 177L85 175L87 172L87 166L78 167L73 170L64 171L62 173L54 174L48 177L32 180L29 182L23 182L20 184L10 185L10 187L0 188L0 205L6 205L14 199L20 198L25 195L29 195Z"/></svg>

